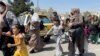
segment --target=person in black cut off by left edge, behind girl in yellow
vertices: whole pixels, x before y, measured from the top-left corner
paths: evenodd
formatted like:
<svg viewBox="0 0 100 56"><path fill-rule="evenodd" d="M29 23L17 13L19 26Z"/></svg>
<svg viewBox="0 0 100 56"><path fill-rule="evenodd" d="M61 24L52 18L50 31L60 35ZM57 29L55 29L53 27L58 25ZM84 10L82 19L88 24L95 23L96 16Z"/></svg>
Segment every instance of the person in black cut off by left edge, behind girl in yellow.
<svg viewBox="0 0 100 56"><path fill-rule="evenodd" d="M8 32L10 30L10 27L8 26L9 23L7 21L8 19L5 18L7 10L8 6L5 3L0 2L0 33ZM0 34L0 48L4 56L13 55L14 49L8 48L8 43L14 43L13 38L8 38L8 36Z"/></svg>

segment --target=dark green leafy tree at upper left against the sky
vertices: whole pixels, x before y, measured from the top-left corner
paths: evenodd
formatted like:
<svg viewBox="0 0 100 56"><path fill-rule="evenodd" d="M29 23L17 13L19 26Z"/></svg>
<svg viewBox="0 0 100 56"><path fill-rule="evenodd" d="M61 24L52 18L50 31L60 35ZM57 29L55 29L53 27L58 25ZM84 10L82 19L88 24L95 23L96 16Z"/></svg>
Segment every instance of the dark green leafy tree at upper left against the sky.
<svg viewBox="0 0 100 56"><path fill-rule="evenodd" d="M14 2L11 3L11 5L11 10L16 16L18 16L20 13L28 11L30 9L30 6L34 4L32 2L27 3L26 0L14 0Z"/></svg>

